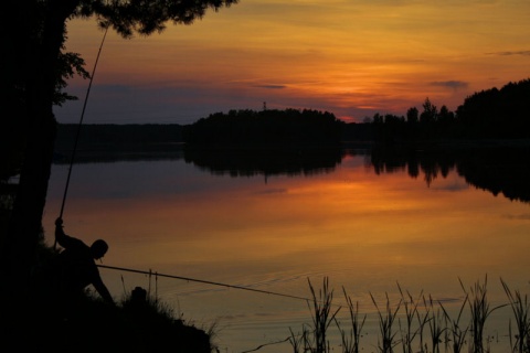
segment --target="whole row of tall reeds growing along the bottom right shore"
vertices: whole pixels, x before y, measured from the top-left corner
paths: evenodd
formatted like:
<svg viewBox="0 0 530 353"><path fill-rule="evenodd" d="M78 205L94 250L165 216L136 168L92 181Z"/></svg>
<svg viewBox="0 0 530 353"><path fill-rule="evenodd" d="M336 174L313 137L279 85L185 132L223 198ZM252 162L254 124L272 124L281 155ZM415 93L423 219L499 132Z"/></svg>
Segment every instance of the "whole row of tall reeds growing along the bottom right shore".
<svg viewBox="0 0 530 353"><path fill-rule="evenodd" d="M487 276L484 281L477 280L469 289L460 278L458 280L465 297L459 308L455 308L456 317L454 318L442 301L434 300L432 296L424 296L423 290L416 299L398 284L401 299L395 304L391 304L389 295L385 293L384 307L380 307L374 295L370 292L379 319L375 350L380 353L393 353L395 347L401 344L403 353L437 353L443 350L442 343L445 343L444 352L490 352L489 344L494 336L485 336L486 322L497 309L511 306L517 330L512 334L510 320L510 351L530 353L529 298L521 295L519 290L511 291L508 285L500 279L509 302L491 307L487 296ZM337 319L337 313L341 308L331 311L333 291L329 288L328 278L324 279L322 288L318 291L312 287L310 280L308 282L312 299L308 299L307 304L312 314L312 322L303 325L301 335L295 335L290 331L289 342L294 353L330 353L332 349L328 341L328 330L331 322L335 322L339 330L342 353L362 351L360 341L367 314L362 317L359 314L359 302L353 302L342 287L351 321L351 327L346 330ZM421 310L422 307L424 310ZM464 318L466 319L464 320ZM396 323L399 329L395 327ZM424 336L425 329L428 329L430 340ZM400 333L401 339L398 336Z"/></svg>

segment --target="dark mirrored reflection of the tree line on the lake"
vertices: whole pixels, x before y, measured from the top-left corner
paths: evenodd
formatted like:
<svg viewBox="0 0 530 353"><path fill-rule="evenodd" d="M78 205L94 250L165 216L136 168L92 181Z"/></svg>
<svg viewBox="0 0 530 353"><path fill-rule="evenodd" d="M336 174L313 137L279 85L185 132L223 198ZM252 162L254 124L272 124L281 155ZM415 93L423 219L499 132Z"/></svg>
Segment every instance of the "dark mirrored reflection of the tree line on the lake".
<svg viewBox="0 0 530 353"><path fill-rule="evenodd" d="M152 127L156 129L157 127ZM411 146L365 145L359 147L329 148L187 148L177 145L171 152L166 149L149 153L121 152L100 154L82 153L83 162L112 162L118 160L183 159L213 175L233 178L263 175L311 176L331 173L342 159L360 157L375 174L406 171L413 178L422 178L430 186L436 179L445 179L456 172L475 188L494 195L504 195L512 201L530 202L530 146L506 145L491 141L489 146L476 147L438 145L420 149ZM60 159L57 163L67 163Z"/></svg>

